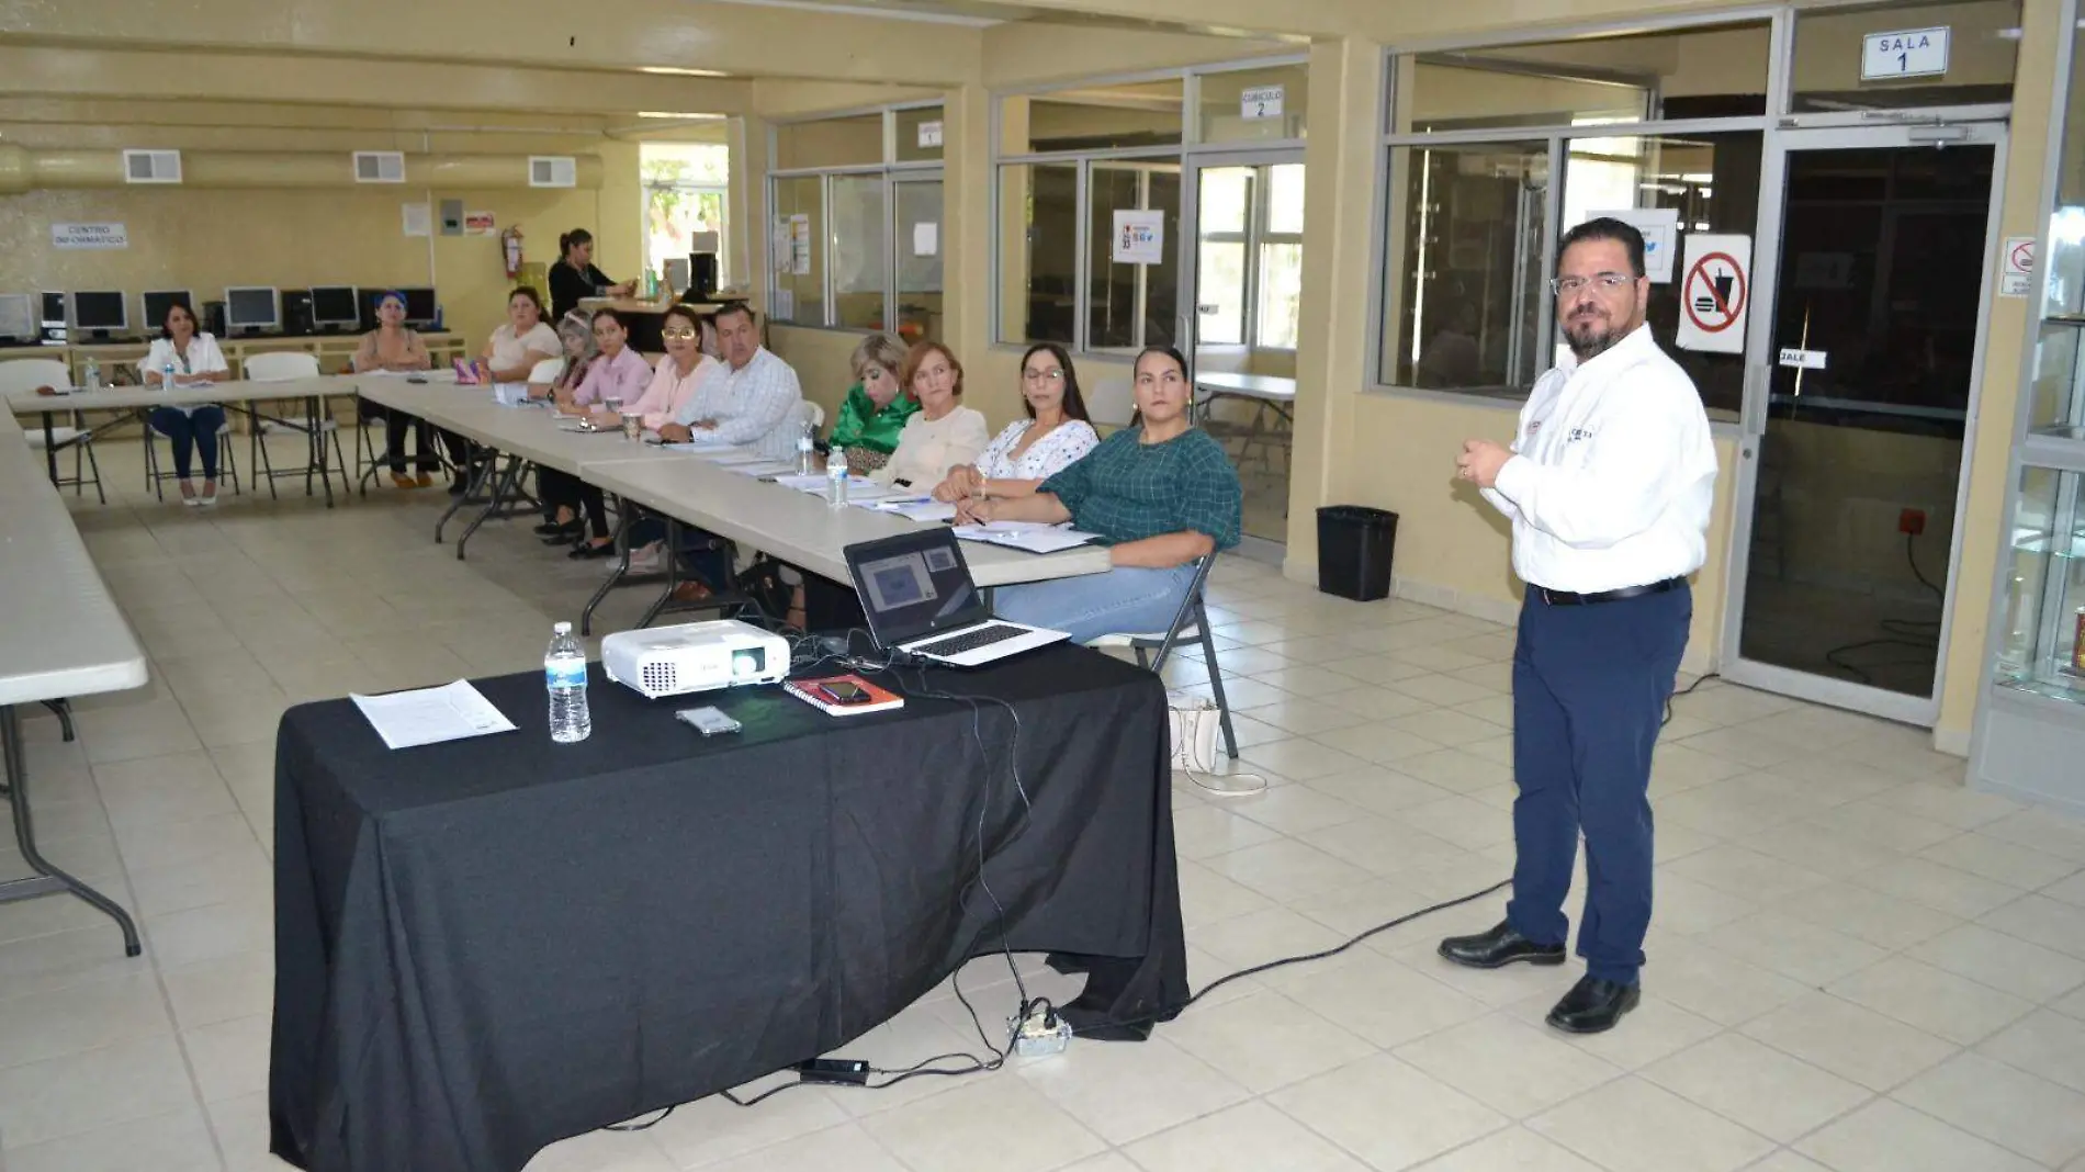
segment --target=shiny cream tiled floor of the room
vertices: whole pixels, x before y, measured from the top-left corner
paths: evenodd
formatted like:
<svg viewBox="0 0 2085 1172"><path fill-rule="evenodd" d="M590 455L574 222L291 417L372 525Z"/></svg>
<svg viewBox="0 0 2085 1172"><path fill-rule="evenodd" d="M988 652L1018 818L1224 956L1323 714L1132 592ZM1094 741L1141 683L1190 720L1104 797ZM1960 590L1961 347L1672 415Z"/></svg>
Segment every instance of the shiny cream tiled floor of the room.
<svg viewBox="0 0 2085 1172"><path fill-rule="evenodd" d="M136 448L102 461L136 486ZM594 582L517 526L455 561L427 540L438 503L77 513L154 682L83 701L77 744L31 722L38 817L56 859L140 911L148 953L125 961L77 901L0 907L6 1170L281 1168L263 1097L279 711L530 667ZM1176 788L1197 986L1505 878L1507 630L1238 559L1213 596L1272 788ZM1718 682L1676 703L1653 797L1645 1001L1605 1036L1541 1024L1572 970L1432 955L1495 922L1493 897L1234 982L1145 1045L711 1099L530 1168L2085 1172L2085 824L1966 792L1914 730ZM1005 966L967 972L1003 1016ZM842 1053L903 1066L967 1036L942 993Z"/></svg>

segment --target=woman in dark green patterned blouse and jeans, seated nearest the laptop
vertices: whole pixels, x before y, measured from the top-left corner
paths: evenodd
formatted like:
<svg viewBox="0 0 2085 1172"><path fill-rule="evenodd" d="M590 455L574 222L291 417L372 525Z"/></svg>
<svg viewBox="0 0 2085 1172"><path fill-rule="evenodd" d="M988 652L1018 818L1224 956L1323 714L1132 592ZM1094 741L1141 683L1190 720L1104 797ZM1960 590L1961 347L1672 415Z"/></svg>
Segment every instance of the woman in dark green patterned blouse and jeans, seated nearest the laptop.
<svg viewBox="0 0 2085 1172"><path fill-rule="evenodd" d="M957 505L957 521L1072 521L1111 546L1107 573L999 588L999 617L1076 642L1172 626L1195 563L1238 544L1245 507L1224 446L1188 421L1191 398L1180 350L1151 346L1136 357L1138 425L1101 440L1034 496Z"/></svg>

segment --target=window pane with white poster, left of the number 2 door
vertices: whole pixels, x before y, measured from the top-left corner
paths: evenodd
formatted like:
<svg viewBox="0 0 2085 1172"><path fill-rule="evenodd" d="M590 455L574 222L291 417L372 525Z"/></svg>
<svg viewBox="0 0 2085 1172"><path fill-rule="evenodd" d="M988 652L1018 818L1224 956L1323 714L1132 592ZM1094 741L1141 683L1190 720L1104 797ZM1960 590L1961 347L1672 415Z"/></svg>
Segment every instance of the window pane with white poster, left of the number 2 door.
<svg viewBox="0 0 2085 1172"><path fill-rule="evenodd" d="M1086 348L1170 346L1180 307L1180 165L1095 163L1086 198L1093 213L1086 238L1093 277L1086 288ZM1163 259L1157 265L1113 261L1118 209L1163 213Z"/></svg>

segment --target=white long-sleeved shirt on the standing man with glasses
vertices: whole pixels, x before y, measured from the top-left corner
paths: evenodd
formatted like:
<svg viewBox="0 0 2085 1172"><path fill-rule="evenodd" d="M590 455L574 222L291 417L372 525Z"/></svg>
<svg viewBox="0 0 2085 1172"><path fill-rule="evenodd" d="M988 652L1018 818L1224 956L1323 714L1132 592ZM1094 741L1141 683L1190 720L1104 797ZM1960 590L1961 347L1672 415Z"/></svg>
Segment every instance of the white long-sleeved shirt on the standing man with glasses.
<svg viewBox="0 0 2085 1172"><path fill-rule="evenodd" d="M1641 325L1535 384L1485 498L1514 521L1514 573L1597 594L1701 569L1716 446L1693 380Z"/></svg>

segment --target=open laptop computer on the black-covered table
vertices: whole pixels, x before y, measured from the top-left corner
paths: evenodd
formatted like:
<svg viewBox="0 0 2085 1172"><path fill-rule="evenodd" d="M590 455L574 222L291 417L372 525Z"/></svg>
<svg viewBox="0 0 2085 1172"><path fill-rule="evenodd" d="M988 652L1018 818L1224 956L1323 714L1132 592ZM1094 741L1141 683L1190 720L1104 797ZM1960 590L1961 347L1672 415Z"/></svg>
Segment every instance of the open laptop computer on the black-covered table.
<svg viewBox="0 0 2085 1172"><path fill-rule="evenodd" d="M982 667L1070 638L1061 630L995 619L970 580L961 544L945 526L851 544L842 553L869 634L886 651Z"/></svg>

